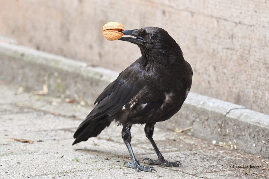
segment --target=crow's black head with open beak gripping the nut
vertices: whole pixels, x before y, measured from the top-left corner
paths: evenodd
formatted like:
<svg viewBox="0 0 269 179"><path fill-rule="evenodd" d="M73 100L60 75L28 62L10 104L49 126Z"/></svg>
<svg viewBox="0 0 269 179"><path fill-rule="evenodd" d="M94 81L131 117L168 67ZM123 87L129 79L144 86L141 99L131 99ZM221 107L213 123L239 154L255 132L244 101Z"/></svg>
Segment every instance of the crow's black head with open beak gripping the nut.
<svg viewBox="0 0 269 179"><path fill-rule="evenodd" d="M119 40L128 41L137 44L142 55L160 56L181 54L182 51L176 41L162 28L145 27L141 29L122 31L124 35L133 37L122 37Z"/></svg>

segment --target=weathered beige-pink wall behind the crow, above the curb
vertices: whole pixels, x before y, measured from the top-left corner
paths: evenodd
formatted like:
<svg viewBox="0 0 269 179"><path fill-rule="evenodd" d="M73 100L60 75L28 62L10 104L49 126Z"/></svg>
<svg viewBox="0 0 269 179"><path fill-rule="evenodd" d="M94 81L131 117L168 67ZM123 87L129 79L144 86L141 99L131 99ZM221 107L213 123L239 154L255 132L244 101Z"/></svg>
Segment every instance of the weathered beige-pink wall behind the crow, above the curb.
<svg viewBox="0 0 269 179"><path fill-rule="evenodd" d="M193 92L269 114L269 2L0 0L0 35L21 45L121 71L140 56L102 26L162 27L194 71Z"/></svg>

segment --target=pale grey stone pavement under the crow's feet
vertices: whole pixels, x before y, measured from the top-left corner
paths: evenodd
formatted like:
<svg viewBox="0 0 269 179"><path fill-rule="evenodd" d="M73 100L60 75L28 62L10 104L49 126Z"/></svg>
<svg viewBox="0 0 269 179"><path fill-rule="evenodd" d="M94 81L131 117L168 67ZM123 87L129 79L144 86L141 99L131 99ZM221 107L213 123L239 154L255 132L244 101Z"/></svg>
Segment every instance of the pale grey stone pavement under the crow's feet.
<svg viewBox="0 0 269 179"><path fill-rule="evenodd" d="M160 151L167 160L180 160L184 168L154 166L158 173L147 173L122 167L130 158L121 126L114 123L98 137L72 146L73 133L92 106L70 101L0 83L0 178L269 177L269 159L162 128L155 128L153 136ZM133 126L131 132L137 159L156 159L143 126ZM236 167L243 165L259 168Z"/></svg>

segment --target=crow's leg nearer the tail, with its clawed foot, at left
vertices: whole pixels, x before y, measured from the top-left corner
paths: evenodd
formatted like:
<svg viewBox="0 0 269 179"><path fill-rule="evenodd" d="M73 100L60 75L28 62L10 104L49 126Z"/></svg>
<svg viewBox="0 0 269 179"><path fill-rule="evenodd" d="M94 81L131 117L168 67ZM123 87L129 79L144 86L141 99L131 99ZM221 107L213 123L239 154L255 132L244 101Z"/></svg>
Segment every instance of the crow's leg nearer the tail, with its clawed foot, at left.
<svg viewBox="0 0 269 179"><path fill-rule="evenodd" d="M133 168L136 171L142 170L142 171L148 171L148 172L152 172L152 171L156 171L153 167L151 166L141 166L139 164L139 162L136 160L134 153L133 153L133 149L131 147L131 139L132 139L132 135L130 132L132 125L124 125L121 131L121 135L122 135L122 139L123 142L126 144L128 151L130 153L131 159L133 160L133 163L130 163L128 161L125 161L123 166L125 164L127 164L128 167Z"/></svg>

